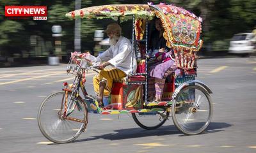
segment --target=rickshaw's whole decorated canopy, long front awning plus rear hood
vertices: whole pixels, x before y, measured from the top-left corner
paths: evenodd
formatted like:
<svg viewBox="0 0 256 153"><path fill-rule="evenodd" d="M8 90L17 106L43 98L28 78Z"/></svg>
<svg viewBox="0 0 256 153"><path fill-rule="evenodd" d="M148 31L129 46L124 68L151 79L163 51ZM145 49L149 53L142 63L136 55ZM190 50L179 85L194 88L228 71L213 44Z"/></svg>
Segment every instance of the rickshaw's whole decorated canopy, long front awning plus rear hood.
<svg viewBox="0 0 256 153"><path fill-rule="evenodd" d="M202 46L200 33L202 31L200 17L196 17L184 8L173 4L111 4L92 6L80 10L70 11L68 18L113 18L120 22L130 20L152 20L154 17L161 18L164 27L164 38L168 47L176 50L198 51ZM140 24L141 26L145 24ZM135 28L138 28L135 26ZM141 27L145 29L145 27ZM142 30L143 31L143 30ZM141 32L142 32L141 31Z"/></svg>

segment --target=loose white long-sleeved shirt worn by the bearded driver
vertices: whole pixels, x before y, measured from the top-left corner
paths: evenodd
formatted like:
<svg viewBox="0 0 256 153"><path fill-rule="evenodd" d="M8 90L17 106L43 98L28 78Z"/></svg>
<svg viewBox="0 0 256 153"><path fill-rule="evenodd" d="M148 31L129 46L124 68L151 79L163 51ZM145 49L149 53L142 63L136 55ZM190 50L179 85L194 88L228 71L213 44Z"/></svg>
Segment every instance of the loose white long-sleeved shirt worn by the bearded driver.
<svg viewBox="0 0 256 153"><path fill-rule="evenodd" d="M97 61L108 61L115 68L121 69L124 73L132 72L132 44L127 38L120 36L116 45L112 45L105 52L97 57ZM133 56L133 73L136 73L137 62L135 53Z"/></svg>

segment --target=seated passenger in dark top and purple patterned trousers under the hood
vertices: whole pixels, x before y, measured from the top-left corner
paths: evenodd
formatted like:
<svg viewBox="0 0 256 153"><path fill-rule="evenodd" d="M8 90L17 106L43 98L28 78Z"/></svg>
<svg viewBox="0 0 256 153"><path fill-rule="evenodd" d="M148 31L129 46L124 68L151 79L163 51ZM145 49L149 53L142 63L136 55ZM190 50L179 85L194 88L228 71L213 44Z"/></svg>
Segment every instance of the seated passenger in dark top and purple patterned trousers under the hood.
<svg viewBox="0 0 256 153"><path fill-rule="evenodd" d="M152 66L149 66L149 78L148 78L148 100L155 102L161 101L164 83L166 77L171 75L176 69L176 64L173 57L173 50L166 47L166 40L164 40L163 33L164 28L159 18L155 22L156 29L159 31L152 34L152 47L155 51L152 52L152 56L155 56L157 62ZM157 53L156 53L157 50ZM149 57L149 55L148 55Z"/></svg>

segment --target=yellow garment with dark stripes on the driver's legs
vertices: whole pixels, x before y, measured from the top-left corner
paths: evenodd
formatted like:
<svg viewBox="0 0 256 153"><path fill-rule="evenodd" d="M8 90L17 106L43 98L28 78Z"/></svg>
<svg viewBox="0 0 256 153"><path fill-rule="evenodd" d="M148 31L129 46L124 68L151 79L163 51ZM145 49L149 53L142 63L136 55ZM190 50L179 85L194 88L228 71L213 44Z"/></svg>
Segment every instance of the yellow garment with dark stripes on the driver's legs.
<svg viewBox="0 0 256 153"><path fill-rule="evenodd" d="M112 85L113 85L113 80L115 78L123 78L126 77L126 74L124 71L117 69L117 68L109 68L109 69L103 69L100 71L98 75L95 75L93 77L93 87L94 91L99 94L99 84L101 81L106 80L106 87L103 92L103 96L109 96Z"/></svg>

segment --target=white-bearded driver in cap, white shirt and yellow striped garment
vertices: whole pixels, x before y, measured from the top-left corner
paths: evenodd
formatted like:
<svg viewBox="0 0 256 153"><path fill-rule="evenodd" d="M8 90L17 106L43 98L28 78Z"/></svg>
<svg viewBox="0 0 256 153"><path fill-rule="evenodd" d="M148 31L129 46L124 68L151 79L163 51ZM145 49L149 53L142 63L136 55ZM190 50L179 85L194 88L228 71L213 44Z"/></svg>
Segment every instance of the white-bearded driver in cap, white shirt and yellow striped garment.
<svg viewBox="0 0 256 153"><path fill-rule="evenodd" d="M97 57L97 62L104 63L99 65L100 73L93 77L93 87L100 106L103 103L103 96L109 96L111 92L113 79L123 78L132 73L132 58L133 73L136 73L137 62L135 55L132 57L131 41L121 36L121 31L120 25L116 23L109 24L104 31L108 34L110 47ZM104 69L109 65L113 68Z"/></svg>

